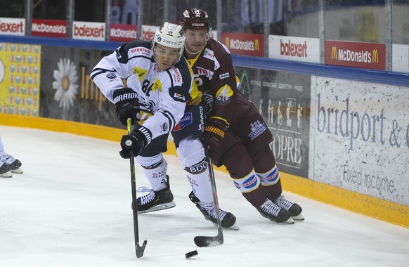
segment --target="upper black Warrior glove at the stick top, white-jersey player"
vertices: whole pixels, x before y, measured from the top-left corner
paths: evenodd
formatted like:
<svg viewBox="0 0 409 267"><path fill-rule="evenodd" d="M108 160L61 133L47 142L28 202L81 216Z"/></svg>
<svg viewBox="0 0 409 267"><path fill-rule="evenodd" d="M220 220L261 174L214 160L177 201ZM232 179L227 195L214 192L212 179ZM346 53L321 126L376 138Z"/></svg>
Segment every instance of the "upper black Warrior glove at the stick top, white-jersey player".
<svg viewBox="0 0 409 267"><path fill-rule="evenodd" d="M117 89L114 91L113 101L119 121L126 126L126 119L131 118L132 124L136 124L140 111L138 93L128 87Z"/></svg>

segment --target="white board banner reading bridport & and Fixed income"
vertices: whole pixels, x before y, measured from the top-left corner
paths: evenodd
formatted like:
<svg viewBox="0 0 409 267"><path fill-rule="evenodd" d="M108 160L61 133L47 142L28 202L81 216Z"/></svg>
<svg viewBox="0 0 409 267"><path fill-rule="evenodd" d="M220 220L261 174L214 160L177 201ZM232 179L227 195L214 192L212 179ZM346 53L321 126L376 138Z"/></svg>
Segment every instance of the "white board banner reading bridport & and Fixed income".
<svg viewBox="0 0 409 267"><path fill-rule="evenodd" d="M409 205L409 88L313 77L310 177Z"/></svg>

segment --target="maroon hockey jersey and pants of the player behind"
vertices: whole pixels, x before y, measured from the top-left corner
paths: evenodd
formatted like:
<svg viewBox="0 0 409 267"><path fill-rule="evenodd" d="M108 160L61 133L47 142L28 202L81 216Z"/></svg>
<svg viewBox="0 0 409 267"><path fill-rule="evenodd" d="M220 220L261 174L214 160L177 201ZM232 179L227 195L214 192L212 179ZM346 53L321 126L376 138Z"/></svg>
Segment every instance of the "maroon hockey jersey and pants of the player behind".
<svg viewBox="0 0 409 267"><path fill-rule="evenodd" d="M257 108L238 92L231 53L226 46L209 39L202 51L188 62L202 100L212 108L207 118L218 117L229 124L219 149L209 151L214 164L221 165L219 159L234 143L242 142L251 155L252 151L273 141Z"/></svg>

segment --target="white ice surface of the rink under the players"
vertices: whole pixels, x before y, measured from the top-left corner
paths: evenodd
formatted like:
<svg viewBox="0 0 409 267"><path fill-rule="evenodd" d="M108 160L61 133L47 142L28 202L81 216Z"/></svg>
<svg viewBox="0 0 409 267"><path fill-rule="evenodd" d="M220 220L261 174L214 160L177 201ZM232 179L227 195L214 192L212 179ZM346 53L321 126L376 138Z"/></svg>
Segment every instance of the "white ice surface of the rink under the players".
<svg viewBox="0 0 409 267"><path fill-rule="evenodd" d="M0 135L24 170L0 178L1 267L409 266L409 229L291 193L306 221L273 223L219 171L221 208L240 230L224 230L221 246L196 247L193 237L217 228L188 200L190 185L171 155L176 207L138 216L148 245L137 259L129 160L119 157L119 143L11 126L0 126ZM136 185L149 186L138 166ZM199 255L185 259L192 250Z"/></svg>

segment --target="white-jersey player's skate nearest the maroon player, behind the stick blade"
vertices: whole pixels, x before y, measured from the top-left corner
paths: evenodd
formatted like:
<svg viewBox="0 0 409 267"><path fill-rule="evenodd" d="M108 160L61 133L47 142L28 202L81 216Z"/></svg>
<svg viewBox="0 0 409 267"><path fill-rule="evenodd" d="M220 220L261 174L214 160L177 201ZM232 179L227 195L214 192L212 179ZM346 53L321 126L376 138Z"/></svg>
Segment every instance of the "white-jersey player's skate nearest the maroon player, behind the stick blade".
<svg viewBox="0 0 409 267"><path fill-rule="evenodd" d="M217 219L216 219L216 207L214 207L213 203L204 203L200 202L200 200L195 196L195 194L190 192L189 194L190 200L196 204L197 209L202 212L204 219L207 221L211 221L214 225L217 226ZM230 212L223 211L220 209L220 219L221 219L221 227L223 228L231 228L233 230L238 230L238 227L235 226L235 216Z"/></svg>

